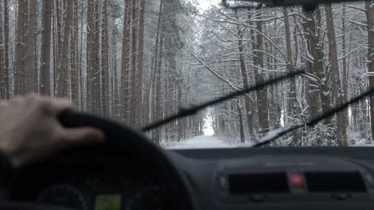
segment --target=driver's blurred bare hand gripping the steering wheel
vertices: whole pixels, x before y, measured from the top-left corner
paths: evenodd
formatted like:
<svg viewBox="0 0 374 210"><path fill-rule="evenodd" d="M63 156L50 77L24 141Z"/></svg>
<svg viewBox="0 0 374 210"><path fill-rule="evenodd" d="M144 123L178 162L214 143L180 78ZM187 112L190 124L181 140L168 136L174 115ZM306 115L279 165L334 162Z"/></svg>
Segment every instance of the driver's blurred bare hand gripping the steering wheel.
<svg viewBox="0 0 374 210"><path fill-rule="evenodd" d="M39 95L0 101L0 151L18 168L72 144L103 142L105 136L96 128L64 128L57 121L70 108L69 100Z"/></svg>

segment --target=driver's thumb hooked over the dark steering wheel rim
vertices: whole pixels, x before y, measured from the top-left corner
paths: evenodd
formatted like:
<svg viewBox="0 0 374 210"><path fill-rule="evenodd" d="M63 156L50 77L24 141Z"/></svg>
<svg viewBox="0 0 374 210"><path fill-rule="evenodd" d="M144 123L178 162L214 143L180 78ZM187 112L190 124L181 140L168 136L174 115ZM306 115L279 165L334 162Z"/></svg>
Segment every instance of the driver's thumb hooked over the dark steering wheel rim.
<svg viewBox="0 0 374 210"><path fill-rule="evenodd" d="M103 143L105 135L96 128L65 128L62 132L62 139L72 144Z"/></svg>

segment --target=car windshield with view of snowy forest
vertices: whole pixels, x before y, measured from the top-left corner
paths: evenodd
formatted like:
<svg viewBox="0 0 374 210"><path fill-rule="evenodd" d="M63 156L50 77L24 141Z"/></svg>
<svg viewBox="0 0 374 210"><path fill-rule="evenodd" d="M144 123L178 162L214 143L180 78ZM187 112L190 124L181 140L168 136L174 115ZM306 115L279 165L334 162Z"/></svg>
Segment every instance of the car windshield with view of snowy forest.
<svg viewBox="0 0 374 210"><path fill-rule="evenodd" d="M5 0L0 97L71 99L135 128L304 70L145 132L168 149L370 146L374 98L308 121L374 87L374 3L226 8L220 0ZM374 143L374 142L373 142Z"/></svg>

